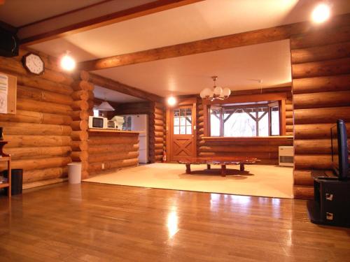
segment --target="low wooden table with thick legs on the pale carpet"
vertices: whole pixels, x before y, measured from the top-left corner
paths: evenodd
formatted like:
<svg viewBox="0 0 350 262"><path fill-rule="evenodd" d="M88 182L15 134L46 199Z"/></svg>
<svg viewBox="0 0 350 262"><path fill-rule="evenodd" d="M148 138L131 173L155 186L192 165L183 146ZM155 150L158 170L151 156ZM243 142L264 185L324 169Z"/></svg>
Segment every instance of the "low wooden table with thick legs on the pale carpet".
<svg viewBox="0 0 350 262"><path fill-rule="evenodd" d="M239 170L244 171L244 164L257 163L259 159L255 157L195 157L178 161L186 165L186 174L191 173L191 165L207 165L207 169L211 169L211 165L221 166L221 176L226 176L226 165L239 165Z"/></svg>

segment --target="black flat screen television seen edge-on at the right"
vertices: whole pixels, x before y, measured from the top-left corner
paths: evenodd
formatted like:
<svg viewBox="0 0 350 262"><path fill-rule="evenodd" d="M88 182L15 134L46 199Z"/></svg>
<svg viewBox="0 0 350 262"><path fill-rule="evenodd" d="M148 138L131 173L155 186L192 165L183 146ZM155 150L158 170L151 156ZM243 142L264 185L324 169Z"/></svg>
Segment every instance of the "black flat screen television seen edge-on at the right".
<svg viewBox="0 0 350 262"><path fill-rule="evenodd" d="M346 125L342 119L330 128L332 146L332 168L339 180L349 178L349 152L346 135Z"/></svg>

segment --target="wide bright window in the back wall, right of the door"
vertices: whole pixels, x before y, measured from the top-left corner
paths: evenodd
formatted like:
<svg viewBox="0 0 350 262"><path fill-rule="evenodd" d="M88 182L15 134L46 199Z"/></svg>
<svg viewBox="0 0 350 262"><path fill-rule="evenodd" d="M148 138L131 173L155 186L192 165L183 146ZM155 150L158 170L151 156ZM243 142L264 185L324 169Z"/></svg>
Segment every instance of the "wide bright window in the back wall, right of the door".
<svg viewBox="0 0 350 262"><path fill-rule="evenodd" d="M279 136L279 102L211 105L211 136Z"/></svg>

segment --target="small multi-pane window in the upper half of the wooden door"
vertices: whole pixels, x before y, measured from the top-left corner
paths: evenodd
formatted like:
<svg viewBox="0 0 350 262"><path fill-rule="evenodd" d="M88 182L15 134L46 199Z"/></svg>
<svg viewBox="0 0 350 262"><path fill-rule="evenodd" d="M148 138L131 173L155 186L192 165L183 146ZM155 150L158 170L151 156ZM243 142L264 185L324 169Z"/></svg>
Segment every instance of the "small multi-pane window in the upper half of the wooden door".
<svg viewBox="0 0 350 262"><path fill-rule="evenodd" d="M179 108L174 110L174 135L192 134L192 109Z"/></svg>

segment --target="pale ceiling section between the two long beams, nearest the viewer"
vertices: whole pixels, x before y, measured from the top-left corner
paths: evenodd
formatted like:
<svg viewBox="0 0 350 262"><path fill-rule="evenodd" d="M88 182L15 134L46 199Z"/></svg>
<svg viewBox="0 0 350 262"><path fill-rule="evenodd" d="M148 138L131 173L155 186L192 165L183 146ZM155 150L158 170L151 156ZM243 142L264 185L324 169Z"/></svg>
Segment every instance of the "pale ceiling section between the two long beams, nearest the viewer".
<svg viewBox="0 0 350 262"><path fill-rule="evenodd" d="M314 0L207 0L98 29L31 45L77 61L110 57L205 38L309 20ZM349 0L333 0L332 13L350 12Z"/></svg>

